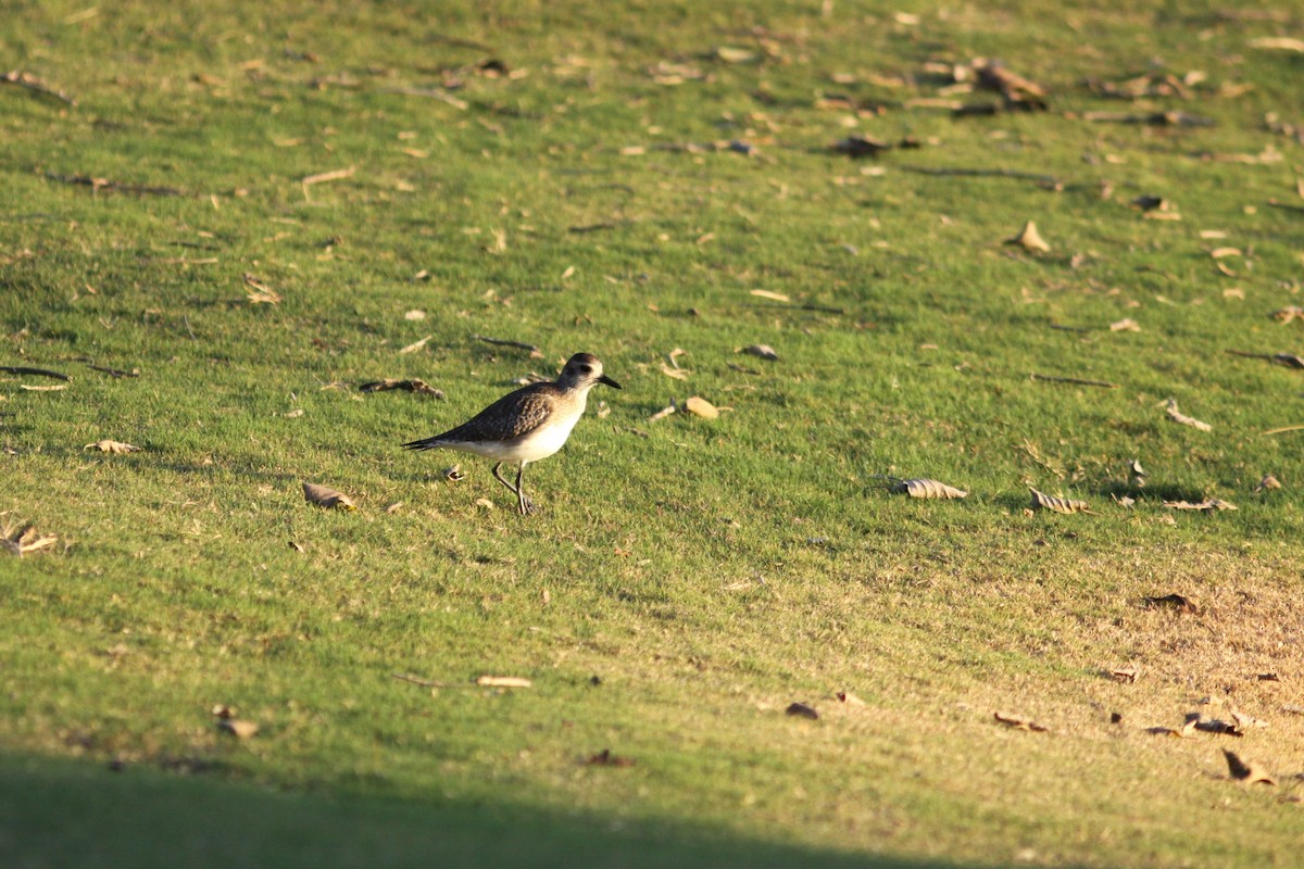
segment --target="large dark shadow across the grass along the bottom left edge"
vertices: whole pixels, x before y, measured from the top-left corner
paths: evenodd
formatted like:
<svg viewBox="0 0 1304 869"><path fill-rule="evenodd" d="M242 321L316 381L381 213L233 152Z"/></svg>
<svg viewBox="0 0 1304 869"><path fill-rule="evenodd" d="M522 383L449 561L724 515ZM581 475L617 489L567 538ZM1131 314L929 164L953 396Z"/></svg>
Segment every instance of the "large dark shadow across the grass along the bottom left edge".
<svg viewBox="0 0 1304 869"><path fill-rule="evenodd" d="M278 792L0 754L4 866L901 866L683 822L510 803Z"/></svg>

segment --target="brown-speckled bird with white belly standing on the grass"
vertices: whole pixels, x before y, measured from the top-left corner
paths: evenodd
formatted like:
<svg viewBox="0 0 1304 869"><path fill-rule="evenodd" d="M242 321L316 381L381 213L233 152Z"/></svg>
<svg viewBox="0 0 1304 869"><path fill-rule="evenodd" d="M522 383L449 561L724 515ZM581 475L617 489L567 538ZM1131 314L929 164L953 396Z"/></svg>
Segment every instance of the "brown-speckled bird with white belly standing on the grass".
<svg viewBox="0 0 1304 869"><path fill-rule="evenodd" d="M455 429L422 440L403 444L404 449L456 449L493 459L494 479L516 495L522 516L536 512L535 502L526 495L522 479L526 465L553 455L570 438L571 429L584 416L588 391L599 383L617 390L619 383L602 373L602 363L592 353L576 353L556 380L532 383L509 392ZM516 464L512 486L498 469Z"/></svg>

